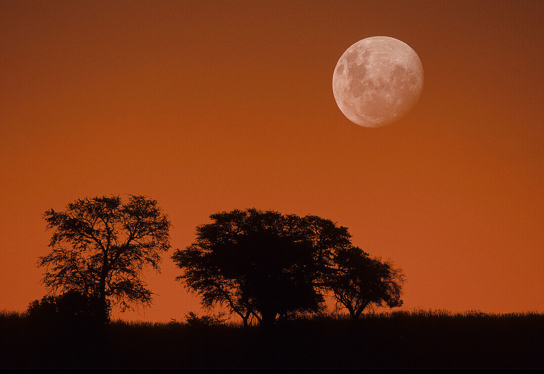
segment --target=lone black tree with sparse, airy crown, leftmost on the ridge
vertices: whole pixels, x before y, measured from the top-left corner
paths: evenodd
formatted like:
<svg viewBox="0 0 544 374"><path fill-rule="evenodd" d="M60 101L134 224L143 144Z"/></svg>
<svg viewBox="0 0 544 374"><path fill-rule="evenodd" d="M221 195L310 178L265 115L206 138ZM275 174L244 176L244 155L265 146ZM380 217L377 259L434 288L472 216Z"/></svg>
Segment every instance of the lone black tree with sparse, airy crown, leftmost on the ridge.
<svg viewBox="0 0 544 374"><path fill-rule="evenodd" d="M42 283L51 292L77 291L95 300L98 319L108 320L109 302L122 310L133 303L149 305L152 292L141 280L145 267L157 272L160 254L170 248L170 221L157 202L129 195L78 199L65 211L44 214L54 233L51 253L40 257L46 267Z"/></svg>

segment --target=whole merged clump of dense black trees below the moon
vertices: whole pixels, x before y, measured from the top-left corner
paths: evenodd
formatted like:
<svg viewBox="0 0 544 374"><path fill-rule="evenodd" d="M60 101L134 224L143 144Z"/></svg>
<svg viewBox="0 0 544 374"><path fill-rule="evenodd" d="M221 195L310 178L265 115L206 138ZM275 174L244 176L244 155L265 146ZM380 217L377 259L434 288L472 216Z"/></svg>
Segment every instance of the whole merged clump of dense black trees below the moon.
<svg viewBox="0 0 544 374"><path fill-rule="evenodd" d="M172 259L202 306L226 306L271 326L277 317L319 313L332 293L355 319L368 306L401 306L400 269L351 245L348 229L318 216L257 209L212 214L196 241Z"/></svg>

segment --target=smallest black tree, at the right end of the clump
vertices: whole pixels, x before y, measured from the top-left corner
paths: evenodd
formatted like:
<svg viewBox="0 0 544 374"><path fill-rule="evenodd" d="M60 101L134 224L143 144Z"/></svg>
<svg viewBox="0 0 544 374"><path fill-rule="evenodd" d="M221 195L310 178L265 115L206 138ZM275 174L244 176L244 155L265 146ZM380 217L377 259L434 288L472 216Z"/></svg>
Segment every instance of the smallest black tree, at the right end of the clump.
<svg viewBox="0 0 544 374"><path fill-rule="evenodd" d="M348 309L352 319L369 306L400 307L404 275L390 261L372 258L361 248L342 248L333 258L334 271L328 282L337 308Z"/></svg>

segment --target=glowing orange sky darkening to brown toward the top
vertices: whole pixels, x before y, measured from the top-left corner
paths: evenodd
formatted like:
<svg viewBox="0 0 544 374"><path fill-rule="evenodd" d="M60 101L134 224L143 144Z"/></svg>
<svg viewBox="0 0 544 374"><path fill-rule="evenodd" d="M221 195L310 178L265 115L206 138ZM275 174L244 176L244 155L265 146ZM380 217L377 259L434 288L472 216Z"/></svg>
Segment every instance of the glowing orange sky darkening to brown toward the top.
<svg viewBox="0 0 544 374"><path fill-rule="evenodd" d="M0 309L46 292L45 210L143 194L170 216L172 252L217 211L314 214L404 269L406 308L544 310L543 10L2 1ZM425 82L370 129L338 109L332 73L376 35L410 45ZM153 306L119 316L199 311L169 256L162 270L146 273Z"/></svg>

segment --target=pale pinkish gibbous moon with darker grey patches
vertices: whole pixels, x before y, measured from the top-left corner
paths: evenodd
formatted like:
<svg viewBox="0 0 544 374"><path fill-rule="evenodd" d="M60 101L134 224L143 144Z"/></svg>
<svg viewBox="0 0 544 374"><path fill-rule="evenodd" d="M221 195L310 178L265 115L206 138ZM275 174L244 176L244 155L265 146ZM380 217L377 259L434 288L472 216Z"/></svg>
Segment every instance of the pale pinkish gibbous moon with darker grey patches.
<svg viewBox="0 0 544 374"><path fill-rule="evenodd" d="M423 88L423 65L404 42L373 36L338 60L332 91L342 113L363 127L380 127L404 115Z"/></svg>

